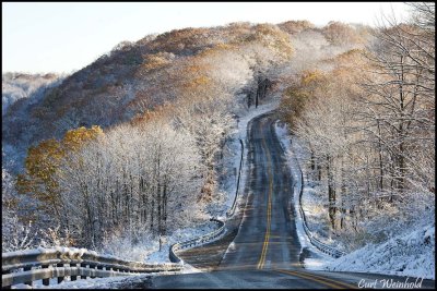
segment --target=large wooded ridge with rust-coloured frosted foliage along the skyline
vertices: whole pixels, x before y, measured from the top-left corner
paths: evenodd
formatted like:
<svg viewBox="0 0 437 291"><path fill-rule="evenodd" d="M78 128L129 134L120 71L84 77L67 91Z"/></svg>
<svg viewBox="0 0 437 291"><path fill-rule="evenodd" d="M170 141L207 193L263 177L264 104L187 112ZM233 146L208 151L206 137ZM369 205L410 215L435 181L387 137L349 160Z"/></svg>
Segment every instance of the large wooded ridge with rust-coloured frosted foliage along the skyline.
<svg viewBox="0 0 437 291"><path fill-rule="evenodd" d="M3 117L3 143L27 146L81 125L126 122L158 106L235 98L251 89L260 73L296 57L293 35L303 37L296 46L319 43L328 50L363 43L367 34L368 27L316 28L292 21L185 28L122 41L37 102L11 108Z"/></svg>

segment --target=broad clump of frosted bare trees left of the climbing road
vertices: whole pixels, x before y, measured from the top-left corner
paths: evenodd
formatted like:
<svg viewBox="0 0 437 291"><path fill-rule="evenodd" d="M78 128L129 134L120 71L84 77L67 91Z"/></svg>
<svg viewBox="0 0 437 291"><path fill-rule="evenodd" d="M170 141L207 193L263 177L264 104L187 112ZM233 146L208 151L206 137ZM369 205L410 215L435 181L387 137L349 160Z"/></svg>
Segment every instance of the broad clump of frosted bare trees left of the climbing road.
<svg viewBox="0 0 437 291"><path fill-rule="evenodd" d="M116 230L134 239L187 223L179 219L199 192L199 159L190 135L169 125L111 130L64 159L59 171L69 229L84 245L101 247Z"/></svg>

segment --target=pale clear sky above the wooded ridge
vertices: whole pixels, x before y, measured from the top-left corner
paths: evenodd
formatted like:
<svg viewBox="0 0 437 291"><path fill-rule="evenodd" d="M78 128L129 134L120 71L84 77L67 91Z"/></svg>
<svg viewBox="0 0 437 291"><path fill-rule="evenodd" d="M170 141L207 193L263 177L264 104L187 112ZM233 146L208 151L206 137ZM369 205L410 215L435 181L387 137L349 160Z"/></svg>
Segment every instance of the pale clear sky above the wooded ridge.
<svg viewBox="0 0 437 291"><path fill-rule="evenodd" d="M375 25L380 12L391 9L406 16L408 8L399 2L2 2L2 72L70 73L122 40L175 28L290 20Z"/></svg>

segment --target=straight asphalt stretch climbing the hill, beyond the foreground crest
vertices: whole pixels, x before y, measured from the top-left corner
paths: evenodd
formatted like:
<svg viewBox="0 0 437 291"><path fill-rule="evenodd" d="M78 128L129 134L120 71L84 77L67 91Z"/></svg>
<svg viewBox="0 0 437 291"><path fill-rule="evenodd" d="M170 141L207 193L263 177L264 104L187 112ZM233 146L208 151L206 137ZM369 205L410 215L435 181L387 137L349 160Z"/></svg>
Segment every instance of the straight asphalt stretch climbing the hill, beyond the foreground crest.
<svg viewBox="0 0 437 291"><path fill-rule="evenodd" d="M293 178L270 114L249 124L249 197L233 247L220 269L299 266L300 244L290 215Z"/></svg>

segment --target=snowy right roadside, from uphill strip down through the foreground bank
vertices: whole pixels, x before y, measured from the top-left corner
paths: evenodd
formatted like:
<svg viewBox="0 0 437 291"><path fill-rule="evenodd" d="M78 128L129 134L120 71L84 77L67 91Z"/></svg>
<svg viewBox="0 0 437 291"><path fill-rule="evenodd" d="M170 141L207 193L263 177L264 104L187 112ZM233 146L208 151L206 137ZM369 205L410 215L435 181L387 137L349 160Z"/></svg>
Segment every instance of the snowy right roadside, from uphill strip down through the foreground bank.
<svg viewBox="0 0 437 291"><path fill-rule="evenodd" d="M284 148L288 166L296 181L299 172L298 163L304 162L302 148L298 138L292 137L286 126L275 124L276 135ZM293 144L291 143L293 142ZM299 160L299 162L297 162ZM298 189L295 185L294 206L297 214L297 233L303 248L308 247L318 254L317 258L305 258L305 268L314 270L356 271L374 272L386 275L399 275L435 279L435 222L418 223L416 228L409 228L403 234L389 239L378 244L368 244L340 258L332 258L319 252L311 245L303 229L303 221L298 211ZM309 191L304 189L304 204L311 203L305 196L311 196ZM310 208L310 207L309 207ZM304 210L307 214L306 207ZM429 221L429 220L428 220Z"/></svg>

